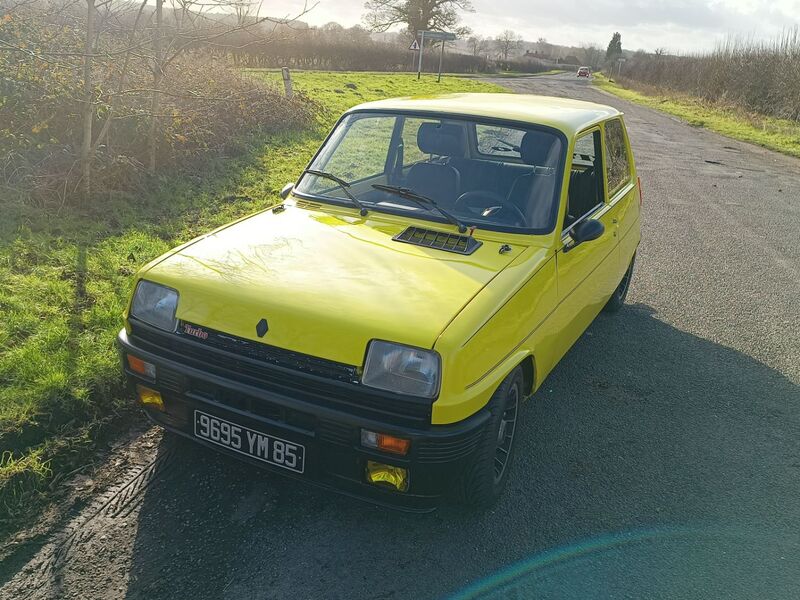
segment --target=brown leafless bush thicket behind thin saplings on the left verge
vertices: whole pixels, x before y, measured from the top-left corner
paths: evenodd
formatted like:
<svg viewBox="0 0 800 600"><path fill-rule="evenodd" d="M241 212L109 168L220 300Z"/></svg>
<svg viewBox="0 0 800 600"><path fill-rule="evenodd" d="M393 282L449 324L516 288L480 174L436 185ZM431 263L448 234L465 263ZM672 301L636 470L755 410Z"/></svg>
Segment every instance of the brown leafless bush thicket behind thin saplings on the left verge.
<svg viewBox="0 0 800 600"><path fill-rule="evenodd" d="M0 206L54 208L81 195L84 83L79 15L41 9L3 14L0 42ZM153 73L148 57L126 54L127 35L98 36L94 60L92 191L135 189L145 178ZM76 56L60 57L71 49ZM122 49L122 50L121 50ZM68 53L68 52L66 52ZM124 73L124 77L122 74ZM155 143L159 170L199 170L204 156L233 154L257 132L303 128L315 108L277 87L242 77L226 56L183 52L162 80Z"/></svg>

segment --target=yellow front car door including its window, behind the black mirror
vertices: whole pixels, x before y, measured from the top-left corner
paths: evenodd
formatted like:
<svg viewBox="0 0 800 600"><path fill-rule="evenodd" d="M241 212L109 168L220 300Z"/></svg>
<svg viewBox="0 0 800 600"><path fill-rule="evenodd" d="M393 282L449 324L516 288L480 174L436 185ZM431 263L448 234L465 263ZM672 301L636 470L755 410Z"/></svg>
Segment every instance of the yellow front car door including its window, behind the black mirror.
<svg viewBox="0 0 800 600"><path fill-rule="evenodd" d="M618 281L618 216L608 202L600 126L574 144L562 233L556 248L559 354L566 352L603 307ZM600 221L603 234L572 246L569 232L587 219Z"/></svg>

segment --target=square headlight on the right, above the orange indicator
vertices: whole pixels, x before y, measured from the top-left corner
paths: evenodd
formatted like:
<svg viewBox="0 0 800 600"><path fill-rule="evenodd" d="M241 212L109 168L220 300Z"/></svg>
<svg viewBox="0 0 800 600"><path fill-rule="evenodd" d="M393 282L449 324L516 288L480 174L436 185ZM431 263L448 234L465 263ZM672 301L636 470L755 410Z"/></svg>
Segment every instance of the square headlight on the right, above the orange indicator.
<svg viewBox="0 0 800 600"><path fill-rule="evenodd" d="M381 390L433 398L439 393L439 371L436 352L373 340L361 382Z"/></svg>

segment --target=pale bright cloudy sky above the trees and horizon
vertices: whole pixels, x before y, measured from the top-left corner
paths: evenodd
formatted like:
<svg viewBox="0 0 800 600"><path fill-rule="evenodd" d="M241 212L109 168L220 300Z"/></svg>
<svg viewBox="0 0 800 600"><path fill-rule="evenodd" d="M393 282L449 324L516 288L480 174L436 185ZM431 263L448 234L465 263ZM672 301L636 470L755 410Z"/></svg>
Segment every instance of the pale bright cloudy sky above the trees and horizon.
<svg viewBox="0 0 800 600"><path fill-rule="evenodd" d="M309 6L315 0L309 0ZM606 47L614 31L626 50L710 50L726 36L768 39L800 24L800 0L472 0L463 22L484 37L512 29L526 41ZM272 15L297 14L302 0L266 0ZM363 0L319 0L311 25L361 22Z"/></svg>

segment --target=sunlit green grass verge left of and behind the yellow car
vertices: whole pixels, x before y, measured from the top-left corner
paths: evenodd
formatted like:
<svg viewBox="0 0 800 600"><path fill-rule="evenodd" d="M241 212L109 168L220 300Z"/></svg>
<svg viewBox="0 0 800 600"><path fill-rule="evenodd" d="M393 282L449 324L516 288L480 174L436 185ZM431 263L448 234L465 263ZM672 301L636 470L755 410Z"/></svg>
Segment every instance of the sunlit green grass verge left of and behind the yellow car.
<svg viewBox="0 0 800 600"><path fill-rule="evenodd" d="M250 74L280 79L275 72ZM299 93L321 106L317 126L254 136L236 158L204 164L202 176L165 176L141 193L55 213L0 198L0 529L30 513L53 478L89 460L107 424L118 426L116 417L131 414L114 338L138 267L275 203L354 104L503 91L456 77L417 81L405 73L296 72L294 80Z"/></svg>

